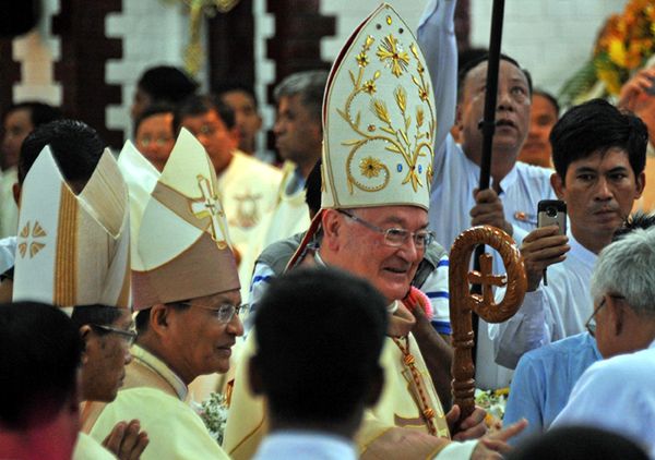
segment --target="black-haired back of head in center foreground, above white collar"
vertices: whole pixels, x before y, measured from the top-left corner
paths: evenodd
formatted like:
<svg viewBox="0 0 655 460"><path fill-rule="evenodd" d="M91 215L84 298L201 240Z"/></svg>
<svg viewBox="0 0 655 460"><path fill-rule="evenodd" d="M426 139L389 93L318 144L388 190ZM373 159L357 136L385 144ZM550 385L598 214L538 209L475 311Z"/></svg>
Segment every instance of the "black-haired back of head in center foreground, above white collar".
<svg viewBox="0 0 655 460"><path fill-rule="evenodd" d="M275 279L259 305L252 364L275 419L352 420L381 376L382 294L361 278L321 267Z"/></svg>

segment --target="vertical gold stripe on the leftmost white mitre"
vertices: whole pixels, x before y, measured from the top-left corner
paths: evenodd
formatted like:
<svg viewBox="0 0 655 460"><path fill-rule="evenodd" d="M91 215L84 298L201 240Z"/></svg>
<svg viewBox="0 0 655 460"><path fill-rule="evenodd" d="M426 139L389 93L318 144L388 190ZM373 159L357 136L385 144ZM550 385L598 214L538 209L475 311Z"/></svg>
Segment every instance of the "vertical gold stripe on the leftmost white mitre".
<svg viewBox="0 0 655 460"><path fill-rule="evenodd" d="M78 199L66 184L61 185L60 196L52 302L73 306L78 293Z"/></svg>

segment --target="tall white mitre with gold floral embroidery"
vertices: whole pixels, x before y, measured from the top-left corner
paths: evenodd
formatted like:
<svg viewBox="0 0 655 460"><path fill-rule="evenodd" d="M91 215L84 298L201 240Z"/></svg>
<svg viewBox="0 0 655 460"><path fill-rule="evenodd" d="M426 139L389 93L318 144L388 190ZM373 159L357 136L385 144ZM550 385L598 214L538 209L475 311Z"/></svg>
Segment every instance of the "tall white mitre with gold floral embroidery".
<svg viewBox="0 0 655 460"><path fill-rule="evenodd" d="M327 78L322 206L428 209L434 130L425 58L412 29L382 4L348 38Z"/></svg>

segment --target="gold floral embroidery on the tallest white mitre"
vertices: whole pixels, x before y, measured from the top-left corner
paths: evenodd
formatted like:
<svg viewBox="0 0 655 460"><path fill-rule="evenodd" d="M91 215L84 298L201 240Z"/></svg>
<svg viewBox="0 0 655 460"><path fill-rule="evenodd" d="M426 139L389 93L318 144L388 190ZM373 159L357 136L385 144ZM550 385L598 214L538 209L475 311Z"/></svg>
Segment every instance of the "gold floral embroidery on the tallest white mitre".
<svg viewBox="0 0 655 460"><path fill-rule="evenodd" d="M350 83L353 85L348 97L345 100L343 109L336 109L336 112L346 121L356 138L342 142L342 145L350 147L346 158L346 178L348 192L354 193L354 187L365 192L378 192L386 187L391 180L390 165L393 157L380 160L374 166L370 162L371 157L368 156L359 159L359 171L354 169L353 161L359 149L372 142L382 142L381 149L386 150L393 156L397 156L398 160L395 166L395 172L405 174L402 184L412 184L415 192L425 184L429 187L432 175L431 162L433 159L432 142L434 132L434 112L430 101L430 86L426 81L425 66L419 58L416 44L409 45L409 51L404 51L401 44L393 34L388 34L381 39L378 46L377 56L380 61L385 63L385 68L396 78L408 71L414 62L416 64L415 72L412 72L410 80L416 86L418 101L413 105L407 101L407 88L400 84L393 92L393 113L398 113L402 121L394 123L392 121L392 112L385 100L374 97L377 94L377 81L384 78L380 70L370 70L368 51L376 44L376 38L371 35L366 36L361 44L361 49L355 56L357 62L357 74L354 70L348 70ZM384 69L384 68L383 68ZM374 116L373 120L369 120L362 126L362 113L359 107L366 107L355 99L365 97L369 99L369 110ZM414 96L413 96L414 97ZM354 113L354 111L356 111ZM419 159L428 157L428 161ZM422 164L426 164L425 166ZM364 165L367 165L365 168Z"/></svg>

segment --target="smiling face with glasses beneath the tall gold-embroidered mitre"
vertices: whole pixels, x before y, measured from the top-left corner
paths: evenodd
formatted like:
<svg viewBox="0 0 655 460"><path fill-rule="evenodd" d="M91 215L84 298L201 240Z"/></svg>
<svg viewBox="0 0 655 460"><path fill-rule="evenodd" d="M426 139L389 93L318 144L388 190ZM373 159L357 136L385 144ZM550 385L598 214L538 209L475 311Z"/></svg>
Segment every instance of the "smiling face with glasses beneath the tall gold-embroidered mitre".
<svg viewBox="0 0 655 460"><path fill-rule="evenodd" d="M334 257L329 263L370 281L389 302L403 299L424 257L412 238L400 246L390 246L384 234L377 232L336 210L331 219L338 226L329 237ZM348 209L348 213L381 229L398 228L410 232L425 230L428 213L415 206L379 206ZM322 254L322 252L321 252Z"/></svg>

